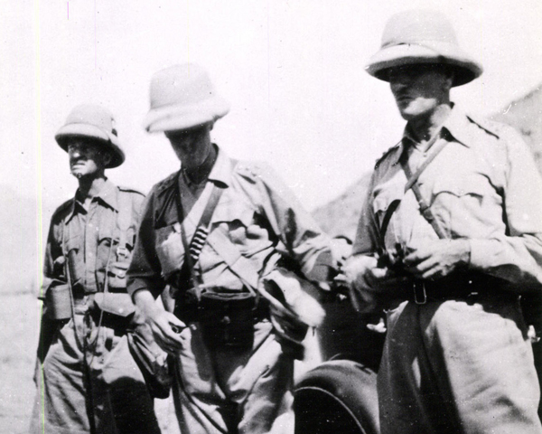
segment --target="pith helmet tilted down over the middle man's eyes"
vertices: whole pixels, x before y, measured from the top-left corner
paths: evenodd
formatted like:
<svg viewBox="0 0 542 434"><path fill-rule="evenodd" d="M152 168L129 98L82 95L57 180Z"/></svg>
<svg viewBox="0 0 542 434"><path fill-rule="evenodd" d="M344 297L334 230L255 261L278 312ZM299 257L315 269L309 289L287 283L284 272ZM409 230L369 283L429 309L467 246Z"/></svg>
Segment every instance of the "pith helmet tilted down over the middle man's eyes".
<svg viewBox="0 0 542 434"><path fill-rule="evenodd" d="M229 112L209 75L194 63L175 65L154 74L151 109L144 126L149 132L173 131L214 122Z"/></svg>

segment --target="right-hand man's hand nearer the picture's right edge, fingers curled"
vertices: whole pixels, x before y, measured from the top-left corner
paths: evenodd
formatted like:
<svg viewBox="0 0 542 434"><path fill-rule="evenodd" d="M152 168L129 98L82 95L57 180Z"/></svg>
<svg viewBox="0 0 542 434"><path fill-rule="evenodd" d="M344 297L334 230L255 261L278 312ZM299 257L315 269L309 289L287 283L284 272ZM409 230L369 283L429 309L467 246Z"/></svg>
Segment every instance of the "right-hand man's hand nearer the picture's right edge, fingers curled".
<svg viewBox="0 0 542 434"><path fill-rule="evenodd" d="M468 240L438 240L410 252L403 263L416 278L436 280L465 268L471 261Z"/></svg>

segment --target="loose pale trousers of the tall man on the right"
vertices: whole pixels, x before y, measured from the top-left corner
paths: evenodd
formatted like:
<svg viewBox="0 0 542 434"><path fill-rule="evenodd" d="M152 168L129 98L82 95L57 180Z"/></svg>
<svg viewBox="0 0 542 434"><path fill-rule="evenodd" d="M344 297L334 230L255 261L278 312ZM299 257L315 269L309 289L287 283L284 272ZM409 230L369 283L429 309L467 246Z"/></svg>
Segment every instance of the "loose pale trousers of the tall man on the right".
<svg viewBox="0 0 542 434"><path fill-rule="evenodd" d="M378 397L382 434L540 434L539 389L519 303L397 302Z"/></svg>

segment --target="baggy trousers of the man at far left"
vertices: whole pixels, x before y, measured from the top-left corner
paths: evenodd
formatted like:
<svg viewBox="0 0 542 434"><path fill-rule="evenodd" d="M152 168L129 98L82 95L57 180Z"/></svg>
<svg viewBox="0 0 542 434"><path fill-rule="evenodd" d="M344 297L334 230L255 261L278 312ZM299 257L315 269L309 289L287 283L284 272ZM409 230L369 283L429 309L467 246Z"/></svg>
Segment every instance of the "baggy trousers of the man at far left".
<svg viewBox="0 0 542 434"><path fill-rule="evenodd" d="M75 328L79 339L73 319L58 330L43 361L30 432L159 433L126 335L98 329L84 313L75 315Z"/></svg>

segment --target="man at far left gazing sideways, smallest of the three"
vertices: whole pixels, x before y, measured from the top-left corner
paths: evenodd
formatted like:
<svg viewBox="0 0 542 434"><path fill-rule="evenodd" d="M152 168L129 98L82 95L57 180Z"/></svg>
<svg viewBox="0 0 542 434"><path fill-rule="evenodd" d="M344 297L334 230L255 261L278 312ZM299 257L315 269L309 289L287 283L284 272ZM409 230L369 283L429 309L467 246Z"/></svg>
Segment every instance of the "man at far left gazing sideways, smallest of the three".
<svg viewBox="0 0 542 434"><path fill-rule="evenodd" d="M76 107L55 138L79 188L51 219L31 432L159 433L126 342L126 269L145 197L105 175L125 161L106 109Z"/></svg>

